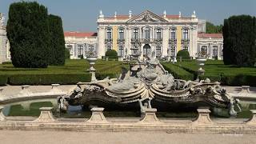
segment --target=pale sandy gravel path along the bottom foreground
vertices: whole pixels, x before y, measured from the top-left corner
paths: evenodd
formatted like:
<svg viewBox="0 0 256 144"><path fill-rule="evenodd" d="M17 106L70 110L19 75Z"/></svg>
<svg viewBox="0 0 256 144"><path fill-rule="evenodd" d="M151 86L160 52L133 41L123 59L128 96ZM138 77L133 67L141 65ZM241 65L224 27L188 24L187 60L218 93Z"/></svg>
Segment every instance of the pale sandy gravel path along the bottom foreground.
<svg viewBox="0 0 256 144"><path fill-rule="evenodd" d="M164 132L71 132L0 130L1 144L243 144L255 143L250 134L167 134Z"/></svg>

